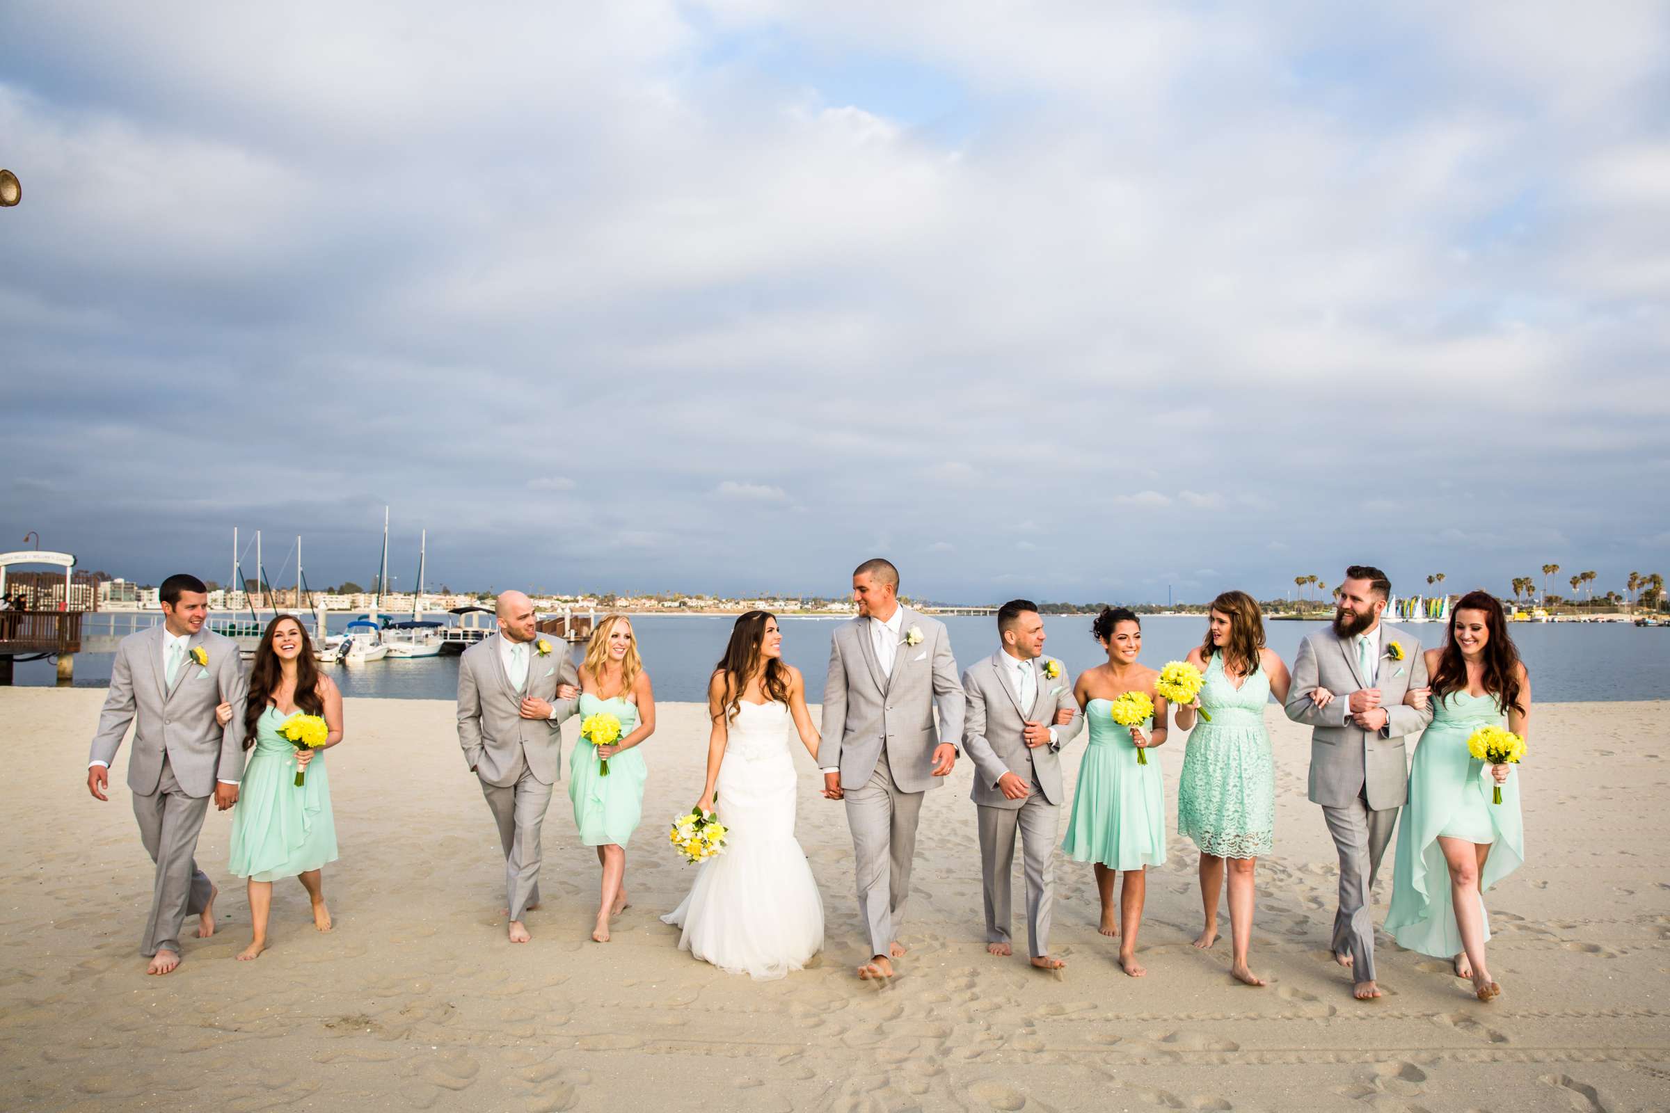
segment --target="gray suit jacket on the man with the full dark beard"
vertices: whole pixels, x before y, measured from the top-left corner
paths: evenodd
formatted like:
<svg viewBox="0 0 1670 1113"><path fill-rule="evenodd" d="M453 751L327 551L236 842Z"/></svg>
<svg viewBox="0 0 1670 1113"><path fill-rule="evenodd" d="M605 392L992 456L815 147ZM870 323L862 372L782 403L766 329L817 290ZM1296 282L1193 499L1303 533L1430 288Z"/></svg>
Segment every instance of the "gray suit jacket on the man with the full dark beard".
<svg viewBox="0 0 1670 1113"><path fill-rule="evenodd" d="M1391 642L1403 649L1403 661L1391 659ZM1403 739L1418 734L1433 721L1426 711L1403 706L1411 687L1426 687L1426 659L1421 642L1391 626L1381 629L1379 679L1369 682L1358 671L1351 642L1333 627L1299 642L1293 662L1293 687L1288 689L1288 718L1311 728L1311 803L1344 808L1366 789L1374 811L1401 808L1409 793L1409 763ZM1334 694L1326 708L1311 703L1311 689L1323 686ZM1379 706L1389 719L1378 733L1351 723L1349 696L1364 687L1379 687Z"/></svg>

